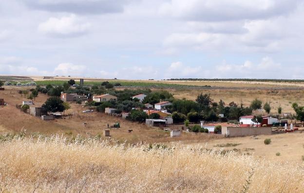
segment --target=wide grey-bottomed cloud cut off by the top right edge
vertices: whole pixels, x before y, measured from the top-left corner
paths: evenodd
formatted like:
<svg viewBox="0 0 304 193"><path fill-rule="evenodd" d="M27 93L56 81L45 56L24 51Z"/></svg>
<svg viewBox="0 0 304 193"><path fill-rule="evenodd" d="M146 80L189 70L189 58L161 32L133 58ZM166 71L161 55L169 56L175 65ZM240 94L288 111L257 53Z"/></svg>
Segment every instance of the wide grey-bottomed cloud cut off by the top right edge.
<svg viewBox="0 0 304 193"><path fill-rule="evenodd" d="M192 21L228 21L270 18L288 14L299 0L171 0L160 13Z"/></svg>

